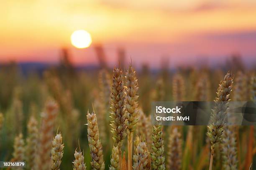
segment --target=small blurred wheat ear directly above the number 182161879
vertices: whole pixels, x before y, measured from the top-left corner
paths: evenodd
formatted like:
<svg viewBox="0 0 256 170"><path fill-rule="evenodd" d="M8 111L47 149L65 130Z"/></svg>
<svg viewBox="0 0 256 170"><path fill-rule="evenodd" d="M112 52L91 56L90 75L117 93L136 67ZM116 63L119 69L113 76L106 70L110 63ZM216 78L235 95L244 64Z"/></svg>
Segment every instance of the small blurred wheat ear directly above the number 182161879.
<svg viewBox="0 0 256 170"><path fill-rule="evenodd" d="M25 160L25 143L23 140L23 135L20 133L18 136L14 139L13 144L13 161L24 161ZM22 168L18 168L18 170L21 170ZM15 168L17 170L17 168Z"/></svg>

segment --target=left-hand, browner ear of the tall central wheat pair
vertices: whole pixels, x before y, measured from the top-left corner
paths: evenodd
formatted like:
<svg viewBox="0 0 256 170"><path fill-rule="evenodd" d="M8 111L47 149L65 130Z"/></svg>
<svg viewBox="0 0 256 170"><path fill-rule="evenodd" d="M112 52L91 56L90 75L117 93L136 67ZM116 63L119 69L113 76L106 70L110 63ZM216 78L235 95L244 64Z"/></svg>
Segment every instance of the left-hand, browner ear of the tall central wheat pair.
<svg viewBox="0 0 256 170"><path fill-rule="evenodd" d="M110 113L110 125L111 133L113 134L114 145L118 147L119 159L121 163L121 146L123 139L127 135L127 119L125 117L125 90L123 85L123 73L119 68L113 70L113 83L111 88L111 110Z"/></svg>

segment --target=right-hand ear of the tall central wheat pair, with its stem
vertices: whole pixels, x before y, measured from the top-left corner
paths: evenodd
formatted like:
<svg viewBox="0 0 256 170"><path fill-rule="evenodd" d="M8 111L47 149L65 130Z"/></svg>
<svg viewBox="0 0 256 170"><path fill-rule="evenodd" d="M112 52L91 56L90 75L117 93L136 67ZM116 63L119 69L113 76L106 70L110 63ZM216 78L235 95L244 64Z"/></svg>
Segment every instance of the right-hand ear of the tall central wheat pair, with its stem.
<svg viewBox="0 0 256 170"><path fill-rule="evenodd" d="M127 136L128 136L128 170L132 170L132 147L133 147L133 132L136 129L138 122L138 80L136 72L132 65L129 66L126 72L126 117L127 117Z"/></svg>

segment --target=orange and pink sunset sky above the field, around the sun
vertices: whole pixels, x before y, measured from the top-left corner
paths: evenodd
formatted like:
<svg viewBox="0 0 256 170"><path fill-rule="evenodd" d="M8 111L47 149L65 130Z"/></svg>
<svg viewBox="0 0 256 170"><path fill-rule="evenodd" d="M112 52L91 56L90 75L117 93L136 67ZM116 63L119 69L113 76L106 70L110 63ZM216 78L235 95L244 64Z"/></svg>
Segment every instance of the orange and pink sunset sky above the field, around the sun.
<svg viewBox="0 0 256 170"><path fill-rule="evenodd" d="M119 47L150 65L161 57L219 62L233 53L256 62L255 0L2 0L0 16L0 62L57 62L68 47L77 65L94 64L98 43L110 63ZM72 47L80 29L90 32L91 47Z"/></svg>

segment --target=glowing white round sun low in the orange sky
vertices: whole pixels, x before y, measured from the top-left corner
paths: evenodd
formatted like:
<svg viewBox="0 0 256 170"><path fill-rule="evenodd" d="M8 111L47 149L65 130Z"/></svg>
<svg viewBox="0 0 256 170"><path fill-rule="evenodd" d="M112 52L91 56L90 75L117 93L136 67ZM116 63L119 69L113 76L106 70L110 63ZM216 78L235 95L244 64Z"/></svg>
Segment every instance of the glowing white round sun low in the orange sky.
<svg viewBox="0 0 256 170"><path fill-rule="evenodd" d="M72 33L71 43L77 48L87 48L92 43L92 37L89 32L85 30L76 30Z"/></svg>

